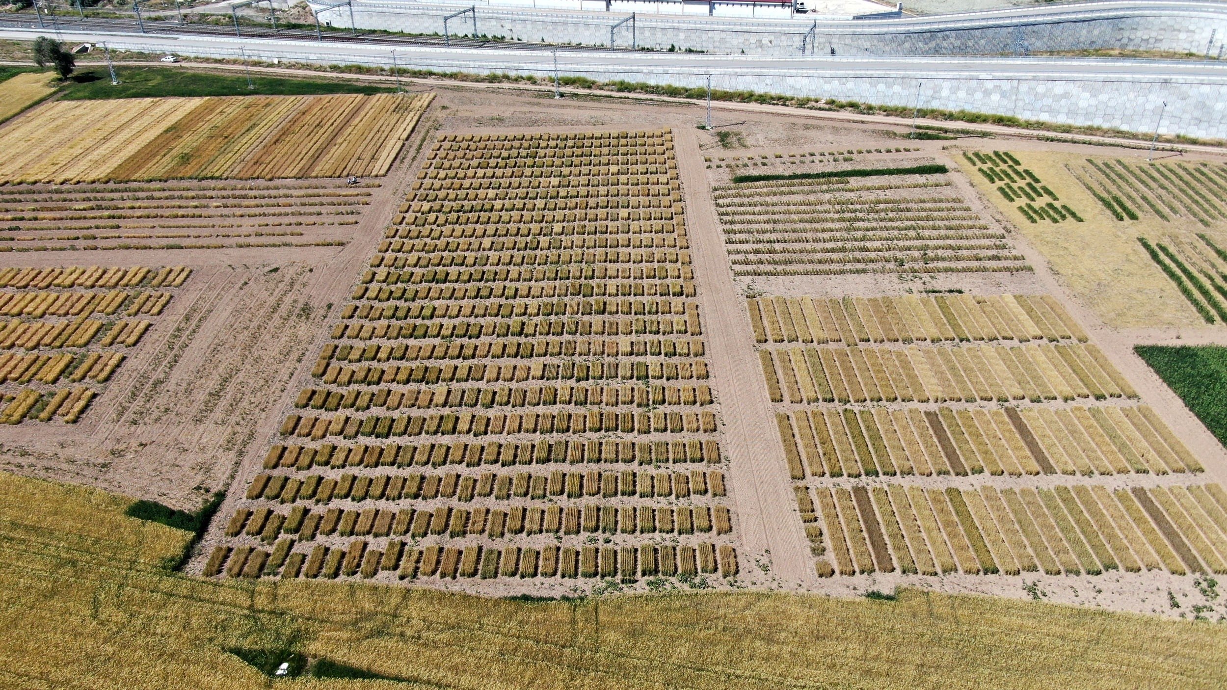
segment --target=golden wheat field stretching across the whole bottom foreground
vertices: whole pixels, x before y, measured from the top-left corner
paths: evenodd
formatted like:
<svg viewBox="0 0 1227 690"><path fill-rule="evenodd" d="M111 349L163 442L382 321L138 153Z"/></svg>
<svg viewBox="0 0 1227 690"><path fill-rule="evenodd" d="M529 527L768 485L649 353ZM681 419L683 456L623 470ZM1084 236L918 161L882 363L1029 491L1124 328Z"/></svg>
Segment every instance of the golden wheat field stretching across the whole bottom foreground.
<svg viewBox="0 0 1227 690"><path fill-rule="evenodd" d="M0 685L255 688L266 678L226 649L259 648L447 688L1227 681L1216 663L1227 638L1216 626L984 597L746 592L521 602L301 580L204 581L166 570L189 533L125 517L128 505L98 490L0 475Z"/></svg>

